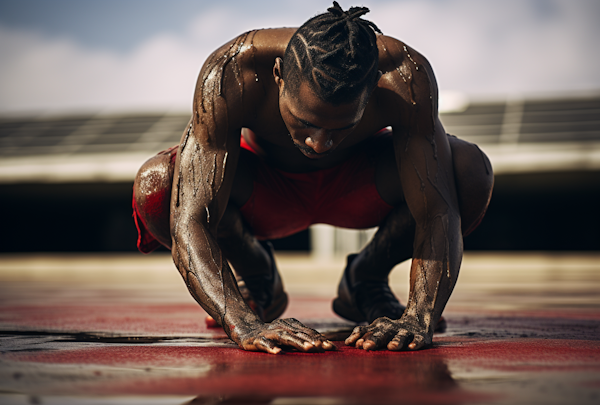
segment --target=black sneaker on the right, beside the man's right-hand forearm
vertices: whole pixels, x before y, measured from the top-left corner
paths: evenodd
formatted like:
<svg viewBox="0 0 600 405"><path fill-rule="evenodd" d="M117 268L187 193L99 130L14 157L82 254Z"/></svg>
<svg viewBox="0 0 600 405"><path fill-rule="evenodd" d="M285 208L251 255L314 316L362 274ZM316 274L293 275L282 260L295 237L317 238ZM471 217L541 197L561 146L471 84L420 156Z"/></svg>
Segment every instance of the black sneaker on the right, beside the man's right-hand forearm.
<svg viewBox="0 0 600 405"><path fill-rule="evenodd" d="M387 316L400 319L405 306L400 304L386 281L359 281L350 283L350 264L356 254L348 256L342 280L338 286L338 296L333 300L333 311L350 321L371 323L375 319Z"/></svg>

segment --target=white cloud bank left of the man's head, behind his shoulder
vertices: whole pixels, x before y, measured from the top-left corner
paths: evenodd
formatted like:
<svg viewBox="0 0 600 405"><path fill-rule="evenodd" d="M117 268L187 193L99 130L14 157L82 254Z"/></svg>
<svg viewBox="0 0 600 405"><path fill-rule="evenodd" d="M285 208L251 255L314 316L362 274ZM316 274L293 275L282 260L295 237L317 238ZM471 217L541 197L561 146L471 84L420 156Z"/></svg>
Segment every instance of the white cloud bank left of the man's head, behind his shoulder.
<svg viewBox="0 0 600 405"><path fill-rule="evenodd" d="M298 24L284 9L246 17L215 7L195 18L185 35L159 34L126 55L0 26L0 114L191 110L210 52L252 28Z"/></svg>

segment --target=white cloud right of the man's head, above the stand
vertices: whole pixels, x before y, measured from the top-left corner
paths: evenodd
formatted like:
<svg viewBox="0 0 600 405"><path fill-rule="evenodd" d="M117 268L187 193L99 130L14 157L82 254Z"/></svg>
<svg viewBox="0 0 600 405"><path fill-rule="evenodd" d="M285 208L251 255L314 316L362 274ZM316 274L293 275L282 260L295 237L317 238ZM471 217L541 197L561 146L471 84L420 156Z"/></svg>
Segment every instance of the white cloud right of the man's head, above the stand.
<svg viewBox="0 0 600 405"><path fill-rule="evenodd" d="M507 94L600 89L599 13L594 1L411 0L371 17L428 57L442 89Z"/></svg>

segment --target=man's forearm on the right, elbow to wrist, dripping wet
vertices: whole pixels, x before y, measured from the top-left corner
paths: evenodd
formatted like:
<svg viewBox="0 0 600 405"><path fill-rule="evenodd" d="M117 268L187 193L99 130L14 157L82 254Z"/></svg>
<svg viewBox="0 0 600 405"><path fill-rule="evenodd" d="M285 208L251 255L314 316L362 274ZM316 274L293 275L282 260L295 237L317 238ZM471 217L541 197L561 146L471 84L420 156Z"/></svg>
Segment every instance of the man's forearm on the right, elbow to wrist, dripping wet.
<svg viewBox="0 0 600 405"><path fill-rule="evenodd" d="M433 333L458 279L462 254L457 214L440 214L417 226L410 293L402 319Z"/></svg>

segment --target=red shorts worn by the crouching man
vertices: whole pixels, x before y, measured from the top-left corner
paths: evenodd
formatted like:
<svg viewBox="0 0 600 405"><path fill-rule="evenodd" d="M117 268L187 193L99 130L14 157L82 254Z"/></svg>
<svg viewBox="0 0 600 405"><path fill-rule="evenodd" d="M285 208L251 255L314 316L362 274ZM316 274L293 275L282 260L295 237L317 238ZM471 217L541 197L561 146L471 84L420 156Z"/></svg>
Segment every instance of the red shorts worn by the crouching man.
<svg viewBox="0 0 600 405"><path fill-rule="evenodd" d="M241 138L242 148L256 152ZM258 239L278 239L322 223L342 228L378 226L392 210L375 187L375 159L371 148L330 169L289 173L269 166L258 157L252 195L240 211ZM175 147L172 153L174 167ZM167 151L161 152L164 154ZM152 206L139 207L133 200L133 217L138 230L138 249L149 253L160 242L148 230L139 211L152 220L169 221L171 190L158 190ZM161 201L155 201L157 198ZM162 201L165 200L165 201ZM155 212L163 207L165 212ZM152 212L150 212L152 211ZM168 246L167 246L168 247Z"/></svg>

